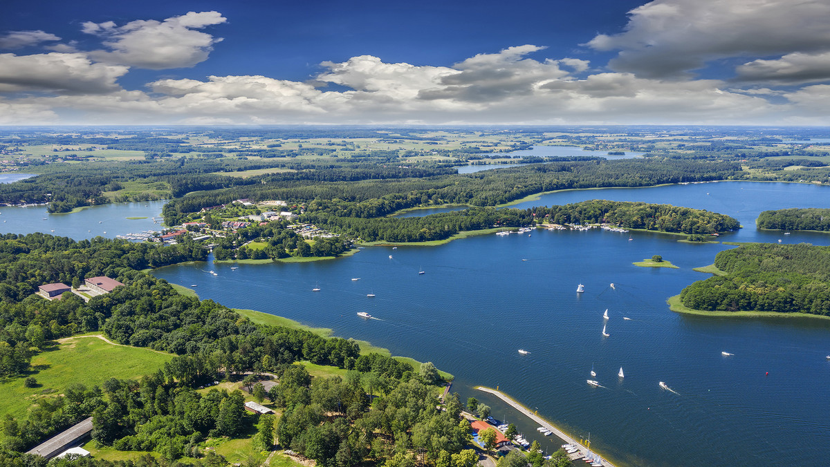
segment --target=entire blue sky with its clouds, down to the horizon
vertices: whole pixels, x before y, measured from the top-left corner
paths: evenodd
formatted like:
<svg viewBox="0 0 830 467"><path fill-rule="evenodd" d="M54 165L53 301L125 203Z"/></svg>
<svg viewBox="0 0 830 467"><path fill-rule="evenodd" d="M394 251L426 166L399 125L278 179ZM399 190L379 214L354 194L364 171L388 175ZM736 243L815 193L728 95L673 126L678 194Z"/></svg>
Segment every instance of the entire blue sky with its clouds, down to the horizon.
<svg viewBox="0 0 830 467"><path fill-rule="evenodd" d="M0 124L827 124L828 24L826 0L6 0Z"/></svg>

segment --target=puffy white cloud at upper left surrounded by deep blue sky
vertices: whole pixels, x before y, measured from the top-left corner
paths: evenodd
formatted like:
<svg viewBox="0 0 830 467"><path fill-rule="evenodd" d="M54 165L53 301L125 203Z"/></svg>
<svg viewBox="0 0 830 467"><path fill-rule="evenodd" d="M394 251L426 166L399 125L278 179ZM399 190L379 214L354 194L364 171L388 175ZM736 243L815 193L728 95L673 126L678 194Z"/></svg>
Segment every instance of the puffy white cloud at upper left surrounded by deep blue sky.
<svg viewBox="0 0 830 467"><path fill-rule="evenodd" d="M124 26L85 22L83 32L103 37L109 49L88 52L95 61L162 70L207 60L213 45L222 39L197 29L225 21L218 12L188 12L164 21L137 20Z"/></svg>

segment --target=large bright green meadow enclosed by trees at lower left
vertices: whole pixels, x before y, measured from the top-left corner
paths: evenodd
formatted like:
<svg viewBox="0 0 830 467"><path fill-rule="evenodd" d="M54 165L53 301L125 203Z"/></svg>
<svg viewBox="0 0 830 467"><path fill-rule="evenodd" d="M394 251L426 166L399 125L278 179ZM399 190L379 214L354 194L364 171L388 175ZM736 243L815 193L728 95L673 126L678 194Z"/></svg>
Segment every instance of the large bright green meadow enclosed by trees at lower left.
<svg viewBox="0 0 830 467"><path fill-rule="evenodd" d="M6 414L25 417L32 402L41 397L61 394L76 382L86 387L101 385L110 377L138 378L155 372L173 358L148 348L105 343L93 336L67 338L32 358L38 387L24 387L23 378L0 382L0 417Z"/></svg>

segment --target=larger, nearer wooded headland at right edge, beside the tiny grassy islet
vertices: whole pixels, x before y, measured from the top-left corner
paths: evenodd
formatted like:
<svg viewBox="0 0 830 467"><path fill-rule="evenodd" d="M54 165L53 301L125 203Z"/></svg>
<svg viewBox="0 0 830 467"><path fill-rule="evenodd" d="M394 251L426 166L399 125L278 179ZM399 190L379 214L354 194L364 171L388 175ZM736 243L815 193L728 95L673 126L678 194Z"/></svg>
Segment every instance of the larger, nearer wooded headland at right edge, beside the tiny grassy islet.
<svg viewBox="0 0 830 467"><path fill-rule="evenodd" d="M691 309L830 315L830 246L749 244L715 256L727 274L681 292Z"/></svg>

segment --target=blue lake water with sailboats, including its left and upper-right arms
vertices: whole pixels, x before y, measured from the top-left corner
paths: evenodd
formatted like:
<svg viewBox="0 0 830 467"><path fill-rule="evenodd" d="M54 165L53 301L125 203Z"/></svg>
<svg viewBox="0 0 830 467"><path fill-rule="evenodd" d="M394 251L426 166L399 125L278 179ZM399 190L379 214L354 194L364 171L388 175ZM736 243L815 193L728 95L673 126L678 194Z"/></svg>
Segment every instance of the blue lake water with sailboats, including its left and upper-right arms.
<svg viewBox="0 0 830 467"><path fill-rule="evenodd" d="M766 209L828 207L828 190L720 182L556 192L519 206L594 198L667 202L738 218L745 229L721 236L722 241L780 238L828 245L828 234L784 236L754 228L758 212ZM108 232L144 230L125 217L143 210L158 214L161 202L63 216L10 209L3 208L0 219L15 212L21 231L62 225L85 236L87 226L98 221L110 222ZM485 401L493 416L515 423L549 452L561 443L539 435L530 420L473 388L499 387L571 435L590 434L592 448L619 465L826 464L830 321L674 314L666 298L707 277L691 268L710 264L718 251L731 247L679 243L676 236L657 233L628 237L599 230L533 231L435 247L371 247L313 263L231 270L206 262L154 274L197 285L202 299L333 328L336 335L434 362L456 375L453 391L462 400ZM680 269L632 265L652 255ZM585 285L583 294L575 291L579 283ZM315 285L320 292L311 291ZM604 309L610 315L608 338L602 335ZM361 311L376 319L359 319ZM520 355L519 348L530 354ZM722 351L735 355L723 357ZM586 383L592 365L597 372L592 379L601 387ZM622 380L620 367L626 373ZM658 387L661 381L675 392Z"/></svg>

